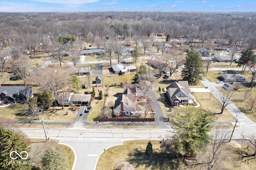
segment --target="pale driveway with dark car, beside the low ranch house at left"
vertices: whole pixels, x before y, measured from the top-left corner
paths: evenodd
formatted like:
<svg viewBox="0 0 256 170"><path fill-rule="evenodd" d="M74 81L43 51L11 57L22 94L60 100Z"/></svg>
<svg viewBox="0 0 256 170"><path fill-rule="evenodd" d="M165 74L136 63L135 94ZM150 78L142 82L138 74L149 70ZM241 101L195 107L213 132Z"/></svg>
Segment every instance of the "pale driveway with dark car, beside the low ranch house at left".
<svg viewBox="0 0 256 170"><path fill-rule="evenodd" d="M71 124L72 128L84 128L86 123L86 118L89 115L89 113L84 113L87 106L80 106L80 109L77 113L75 121Z"/></svg>

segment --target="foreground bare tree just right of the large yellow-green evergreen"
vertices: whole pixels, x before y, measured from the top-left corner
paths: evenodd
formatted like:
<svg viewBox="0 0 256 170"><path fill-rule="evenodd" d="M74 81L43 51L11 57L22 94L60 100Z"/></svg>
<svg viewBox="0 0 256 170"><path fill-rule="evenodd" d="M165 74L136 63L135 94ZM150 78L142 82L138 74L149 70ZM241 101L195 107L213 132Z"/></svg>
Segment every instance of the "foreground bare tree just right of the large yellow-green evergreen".
<svg viewBox="0 0 256 170"><path fill-rule="evenodd" d="M188 163L189 167L201 170L221 169L228 156L227 142L230 134L226 129L217 127L211 132L212 140L200 149L196 157Z"/></svg>

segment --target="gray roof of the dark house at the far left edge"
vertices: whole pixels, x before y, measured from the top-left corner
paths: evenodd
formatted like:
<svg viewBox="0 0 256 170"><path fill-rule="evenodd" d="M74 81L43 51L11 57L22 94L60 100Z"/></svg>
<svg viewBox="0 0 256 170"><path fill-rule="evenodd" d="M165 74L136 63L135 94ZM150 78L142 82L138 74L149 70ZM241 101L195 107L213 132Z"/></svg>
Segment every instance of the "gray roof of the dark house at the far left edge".
<svg viewBox="0 0 256 170"><path fill-rule="evenodd" d="M0 94L4 93L5 96L10 96L12 98L15 98L13 97L13 95L20 94L24 96L26 96L27 94L29 96L32 96L33 91L30 89L32 88L29 86L0 86Z"/></svg>

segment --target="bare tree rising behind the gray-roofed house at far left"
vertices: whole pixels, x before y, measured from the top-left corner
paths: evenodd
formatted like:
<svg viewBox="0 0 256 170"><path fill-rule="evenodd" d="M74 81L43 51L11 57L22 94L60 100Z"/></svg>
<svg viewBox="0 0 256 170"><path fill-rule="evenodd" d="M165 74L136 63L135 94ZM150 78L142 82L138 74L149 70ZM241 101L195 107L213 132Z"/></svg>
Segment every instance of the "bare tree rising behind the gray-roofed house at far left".
<svg viewBox="0 0 256 170"><path fill-rule="evenodd" d="M12 65L12 71L16 77L19 77L27 85L28 75L30 74L31 65L26 55L21 55Z"/></svg>

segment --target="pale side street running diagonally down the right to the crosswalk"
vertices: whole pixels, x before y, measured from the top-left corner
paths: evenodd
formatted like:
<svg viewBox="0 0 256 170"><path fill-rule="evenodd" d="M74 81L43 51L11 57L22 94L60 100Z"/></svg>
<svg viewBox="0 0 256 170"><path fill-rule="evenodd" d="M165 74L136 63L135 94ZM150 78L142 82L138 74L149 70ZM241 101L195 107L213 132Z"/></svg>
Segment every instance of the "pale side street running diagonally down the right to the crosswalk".
<svg viewBox="0 0 256 170"><path fill-rule="evenodd" d="M209 82L207 79L201 81L203 85L208 87L208 90L219 100L221 101L222 93L215 88L214 84ZM226 109L238 119L240 125L244 126L256 126L252 120L250 120L242 111L240 111L234 104L230 103Z"/></svg>

